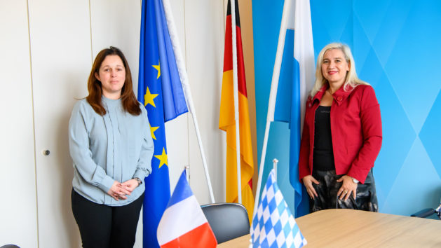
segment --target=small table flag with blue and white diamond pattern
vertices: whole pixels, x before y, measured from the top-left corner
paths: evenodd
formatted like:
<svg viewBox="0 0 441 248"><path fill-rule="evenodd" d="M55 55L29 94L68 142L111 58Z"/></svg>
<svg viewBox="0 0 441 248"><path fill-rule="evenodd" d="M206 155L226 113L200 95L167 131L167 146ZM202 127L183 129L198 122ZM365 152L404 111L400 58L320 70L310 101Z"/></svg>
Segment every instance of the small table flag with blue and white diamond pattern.
<svg viewBox="0 0 441 248"><path fill-rule="evenodd" d="M274 170L269 173L250 232L253 247L303 247L306 244L278 188Z"/></svg>

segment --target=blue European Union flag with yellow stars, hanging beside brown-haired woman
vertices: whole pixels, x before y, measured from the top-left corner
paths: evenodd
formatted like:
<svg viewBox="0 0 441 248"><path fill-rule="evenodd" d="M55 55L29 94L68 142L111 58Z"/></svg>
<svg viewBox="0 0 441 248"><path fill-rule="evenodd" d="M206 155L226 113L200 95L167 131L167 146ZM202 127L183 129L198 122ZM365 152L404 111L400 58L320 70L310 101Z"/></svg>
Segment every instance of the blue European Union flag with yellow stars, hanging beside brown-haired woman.
<svg viewBox="0 0 441 248"><path fill-rule="evenodd" d="M147 109L155 146L144 179L143 246L159 247L156 229L170 199L164 123L188 111L161 0L142 1L138 101Z"/></svg>

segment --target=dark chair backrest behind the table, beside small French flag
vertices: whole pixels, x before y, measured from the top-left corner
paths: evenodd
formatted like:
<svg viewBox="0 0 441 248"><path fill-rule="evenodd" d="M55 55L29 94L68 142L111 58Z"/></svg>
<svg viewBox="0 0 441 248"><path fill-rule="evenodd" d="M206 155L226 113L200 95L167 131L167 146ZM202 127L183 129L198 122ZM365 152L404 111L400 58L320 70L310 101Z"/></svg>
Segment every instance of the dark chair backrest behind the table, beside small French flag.
<svg viewBox="0 0 441 248"><path fill-rule="evenodd" d="M217 243L250 233L247 209L238 203L213 203L201 206L215 233Z"/></svg>

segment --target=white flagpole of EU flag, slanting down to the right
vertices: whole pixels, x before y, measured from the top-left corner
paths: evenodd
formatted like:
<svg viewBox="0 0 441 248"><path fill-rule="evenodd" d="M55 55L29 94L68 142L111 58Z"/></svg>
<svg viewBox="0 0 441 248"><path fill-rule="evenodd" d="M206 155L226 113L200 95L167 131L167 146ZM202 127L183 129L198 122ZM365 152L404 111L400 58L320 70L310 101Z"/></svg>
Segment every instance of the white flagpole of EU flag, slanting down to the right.
<svg viewBox="0 0 441 248"><path fill-rule="evenodd" d="M177 64L177 69L179 71L179 77L181 78L182 89L184 90L186 105L189 108L189 112L193 117L194 129L196 130L196 137L198 139L199 150L201 151L202 164L205 170L205 178L207 179L208 191L210 193L210 200L215 203L215 196L213 194L213 189L211 186L210 174L208 173L207 160L205 159L205 151L203 149L201 132L199 131L198 120L196 118L196 110L193 104L193 97L191 97L189 76L186 73L184 58L182 57L181 46L179 45L179 39L175 27L175 20L173 20L173 14L170 6L169 0L162 0L165 19L167 20L168 32L170 39L172 41L173 51L175 52L175 59Z"/></svg>

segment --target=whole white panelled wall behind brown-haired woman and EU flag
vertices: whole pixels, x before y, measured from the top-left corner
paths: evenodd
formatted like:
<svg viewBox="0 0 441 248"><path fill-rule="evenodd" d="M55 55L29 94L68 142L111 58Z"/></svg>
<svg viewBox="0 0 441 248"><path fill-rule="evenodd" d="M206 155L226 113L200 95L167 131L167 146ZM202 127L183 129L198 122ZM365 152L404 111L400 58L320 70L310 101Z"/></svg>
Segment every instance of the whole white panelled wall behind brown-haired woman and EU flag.
<svg viewBox="0 0 441 248"><path fill-rule="evenodd" d="M215 198L223 201L225 143L217 122L224 3L170 2ZM121 48L137 82L140 9L140 0L0 0L0 246L81 246L70 205L69 116L76 99L87 95L90 67L102 48ZM196 198L209 203L191 116L179 116L166 128L172 188L184 165L190 165ZM141 228L135 247L142 247Z"/></svg>

